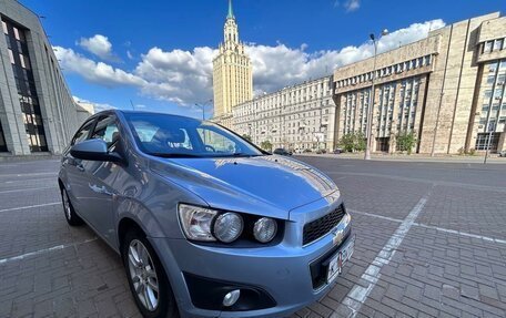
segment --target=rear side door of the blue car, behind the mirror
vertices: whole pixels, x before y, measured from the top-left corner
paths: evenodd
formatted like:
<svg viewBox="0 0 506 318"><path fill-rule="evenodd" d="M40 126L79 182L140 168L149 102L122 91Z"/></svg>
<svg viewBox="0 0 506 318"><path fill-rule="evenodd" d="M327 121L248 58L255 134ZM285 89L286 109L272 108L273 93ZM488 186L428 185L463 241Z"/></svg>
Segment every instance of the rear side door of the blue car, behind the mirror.
<svg viewBox="0 0 506 318"><path fill-rule="evenodd" d="M63 154L63 161L62 165L64 167L65 172L65 188L67 193L70 196L70 201L72 202L72 206L77 209L78 214L87 219L85 211L83 206L85 206L85 203L83 203L83 195L85 194L85 189L82 188L82 185L84 184L84 181L82 179L84 177L83 171L84 167L82 165L82 160L75 158L70 154L70 148L79 144L85 140L89 139L91 131L93 130L95 119L90 119L88 120L81 129L75 133L75 135L72 137L72 141L70 142L69 148L65 150Z"/></svg>

